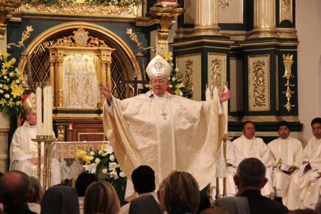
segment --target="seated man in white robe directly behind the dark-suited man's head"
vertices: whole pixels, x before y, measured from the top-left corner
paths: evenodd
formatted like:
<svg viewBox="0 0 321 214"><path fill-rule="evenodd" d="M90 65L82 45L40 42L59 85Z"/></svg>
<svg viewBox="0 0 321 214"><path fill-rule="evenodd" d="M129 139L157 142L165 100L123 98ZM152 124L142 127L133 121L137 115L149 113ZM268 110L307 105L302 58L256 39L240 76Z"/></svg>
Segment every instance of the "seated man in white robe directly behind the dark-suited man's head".
<svg viewBox="0 0 321 214"><path fill-rule="evenodd" d="M272 161L270 160L270 151L262 138L255 137L255 125L252 121L245 121L242 129L243 135L233 140L233 148L237 165L245 158L255 157L263 162L266 167L266 178L268 182L261 189L263 196L274 198L275 192L272 186L271 172Z"/></svg>

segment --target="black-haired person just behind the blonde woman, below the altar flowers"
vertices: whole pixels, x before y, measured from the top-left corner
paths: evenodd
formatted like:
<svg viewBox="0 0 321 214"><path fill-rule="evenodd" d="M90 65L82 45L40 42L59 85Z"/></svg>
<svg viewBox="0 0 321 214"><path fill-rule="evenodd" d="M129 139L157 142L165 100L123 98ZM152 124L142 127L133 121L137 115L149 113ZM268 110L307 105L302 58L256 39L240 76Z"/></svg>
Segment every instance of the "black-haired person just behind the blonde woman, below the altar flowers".
<svg viewBox="0 0 321 214"><path fill-rule="evenodd" d="M75 188L78 192L78 201L79 201L79 211L80 214L84 213L84 198L87 187L92 183L97 181L95 174L89 174L87 172L82 172L78 175L75 183Z"/></svg>

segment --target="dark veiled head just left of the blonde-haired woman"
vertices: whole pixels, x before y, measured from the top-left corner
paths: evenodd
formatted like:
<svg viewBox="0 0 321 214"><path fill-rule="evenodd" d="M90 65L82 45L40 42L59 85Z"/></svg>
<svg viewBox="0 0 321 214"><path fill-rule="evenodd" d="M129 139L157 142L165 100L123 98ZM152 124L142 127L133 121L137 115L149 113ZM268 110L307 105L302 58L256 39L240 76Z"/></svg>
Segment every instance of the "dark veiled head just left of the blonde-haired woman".
<svg viewBox="0 0 321 214"><path fill-rule="evenodd" d="M79 214L78 194L75 188L55 185L46 190L41 201L41 214Z"/></svg>

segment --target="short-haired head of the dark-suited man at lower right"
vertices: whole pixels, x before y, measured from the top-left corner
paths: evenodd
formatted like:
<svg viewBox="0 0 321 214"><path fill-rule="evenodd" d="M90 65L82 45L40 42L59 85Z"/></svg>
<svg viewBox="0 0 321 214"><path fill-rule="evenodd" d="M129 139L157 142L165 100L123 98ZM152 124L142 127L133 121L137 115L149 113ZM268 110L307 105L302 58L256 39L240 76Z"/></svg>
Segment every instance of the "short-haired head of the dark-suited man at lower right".
<svg viewBox="0 0 321 214"><path fill-rule="evenodd" d="M237 168L234 181L239 193L245 189L260 190L267 182L264 164L254 157L245 158Z"/></svg>

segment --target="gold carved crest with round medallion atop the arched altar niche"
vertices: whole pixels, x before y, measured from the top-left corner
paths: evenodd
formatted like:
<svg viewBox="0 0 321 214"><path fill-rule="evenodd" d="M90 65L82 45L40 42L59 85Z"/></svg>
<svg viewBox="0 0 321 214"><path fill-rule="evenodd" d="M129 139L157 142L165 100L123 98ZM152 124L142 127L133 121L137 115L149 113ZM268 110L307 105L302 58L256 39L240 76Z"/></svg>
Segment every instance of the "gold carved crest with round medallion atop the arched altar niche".
<svg viewBox="0 0 321 214"><path fill-rule="evenodd" d="M58 39L53 46L108 47L105 41L88 36L89 33L83 28L78 28L73 34L74 36Z"/></svg>

